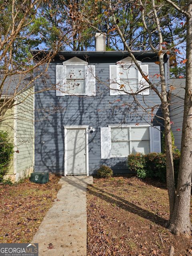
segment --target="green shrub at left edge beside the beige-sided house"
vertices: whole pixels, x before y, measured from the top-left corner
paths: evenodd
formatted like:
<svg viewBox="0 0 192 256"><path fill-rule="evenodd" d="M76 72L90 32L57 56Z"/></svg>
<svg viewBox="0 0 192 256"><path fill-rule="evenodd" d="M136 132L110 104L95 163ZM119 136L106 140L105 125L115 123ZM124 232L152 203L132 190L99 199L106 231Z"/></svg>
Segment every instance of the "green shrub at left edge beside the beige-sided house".
<svg viewBox="0 0 192 256"><path fill-rule="evenodd" d="M8 137L8 132L0 131L0 182L9 170L9 164L13 155L13 143Z"/></svg>

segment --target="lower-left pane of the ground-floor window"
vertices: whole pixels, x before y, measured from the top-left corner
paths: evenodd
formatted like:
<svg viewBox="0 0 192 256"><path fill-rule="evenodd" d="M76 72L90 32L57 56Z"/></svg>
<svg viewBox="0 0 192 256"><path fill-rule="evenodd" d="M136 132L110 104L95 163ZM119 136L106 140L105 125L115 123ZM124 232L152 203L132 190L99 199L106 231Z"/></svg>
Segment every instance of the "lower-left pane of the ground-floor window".
<svg viewBox="0 0 192 256"><path fill-rule="evenodd" d="M111 144L112 156L127 157L129 152L129 142L112 142Z"/></svg>

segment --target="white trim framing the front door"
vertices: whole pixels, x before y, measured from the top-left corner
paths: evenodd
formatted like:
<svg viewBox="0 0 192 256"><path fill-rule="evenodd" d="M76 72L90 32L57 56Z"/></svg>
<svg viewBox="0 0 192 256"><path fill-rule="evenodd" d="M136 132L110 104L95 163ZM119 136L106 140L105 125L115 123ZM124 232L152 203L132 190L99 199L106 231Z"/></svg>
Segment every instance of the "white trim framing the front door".
<svg viewBox="0 0 192 256"><path fill-rule="evenodd" d="M86 174L89 176L89 143L88 143L88 125L64 126L64 176L67 175L67 130L84 129L86 130Z"/></svg>

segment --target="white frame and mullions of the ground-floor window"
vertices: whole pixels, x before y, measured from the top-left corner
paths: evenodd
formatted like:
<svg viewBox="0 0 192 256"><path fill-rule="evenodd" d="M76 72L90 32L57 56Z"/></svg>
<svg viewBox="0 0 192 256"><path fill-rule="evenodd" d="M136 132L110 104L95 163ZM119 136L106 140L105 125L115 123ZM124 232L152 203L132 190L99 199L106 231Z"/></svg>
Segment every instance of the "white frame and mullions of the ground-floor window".
<svg viewBox="0 0 192 256"><path fill-rule="evenodd" d="M112 143L112 138L111 138L111 128L131 128L131 127L136 127L134 124L122 124L122 125L108 125L108 127L110 128L109 132L110 132L110 139L111 139L111 143ZM138 127L146 127L149 128L149 144L150 144L150 152L152 152L152 130L150 129L151 125L150 124L140 124ZM141 140L142 141L142 140ZM129 129L129 152L130 154L132 154L132 150L131 150L131 129ZM112 155L112 152L110 150L110 158L125 158L127 156L121 156L121 155Z"/></svg>

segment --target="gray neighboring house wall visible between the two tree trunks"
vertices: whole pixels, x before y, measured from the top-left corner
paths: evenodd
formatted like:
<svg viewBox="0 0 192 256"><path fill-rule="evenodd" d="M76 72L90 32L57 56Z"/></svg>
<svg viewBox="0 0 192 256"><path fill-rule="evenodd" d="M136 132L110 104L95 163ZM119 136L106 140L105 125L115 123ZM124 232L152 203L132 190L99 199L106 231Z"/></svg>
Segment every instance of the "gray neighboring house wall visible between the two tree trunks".
<svg viewBox="0 0 192 256"><path fill-rule="evenodd" d="M174 86L170 101L170 118L174 122L171 127L175 138L175 146L180 150L186 80L185 78L172 78L169 83Z"/></svg>

